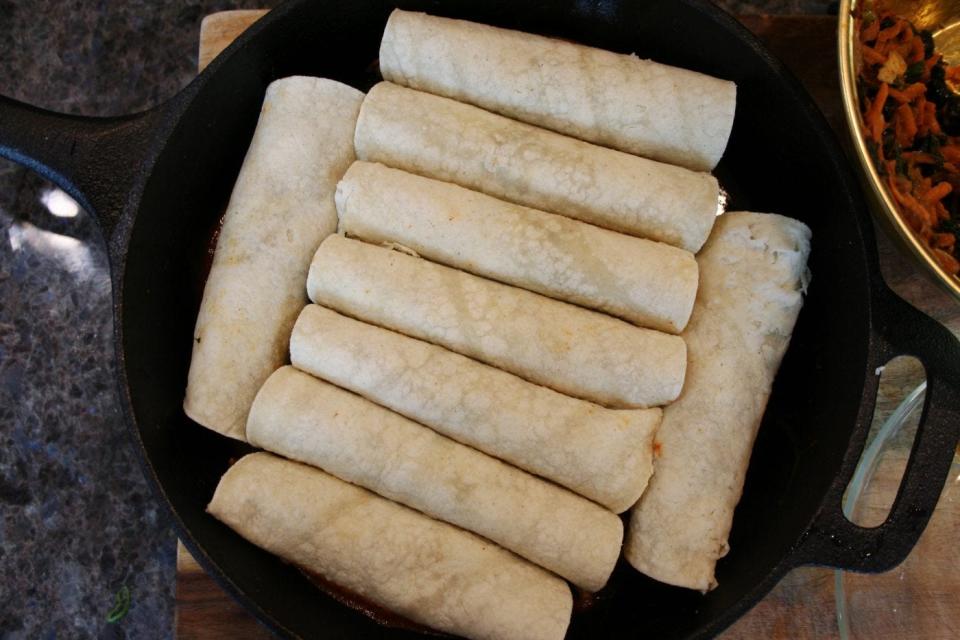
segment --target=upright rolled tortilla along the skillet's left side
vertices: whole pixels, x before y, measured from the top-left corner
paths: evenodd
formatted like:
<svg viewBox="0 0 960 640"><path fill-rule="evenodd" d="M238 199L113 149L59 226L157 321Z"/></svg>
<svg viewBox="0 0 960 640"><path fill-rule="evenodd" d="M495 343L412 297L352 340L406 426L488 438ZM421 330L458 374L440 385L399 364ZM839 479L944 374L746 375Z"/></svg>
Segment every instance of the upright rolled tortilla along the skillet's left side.
<svg viewBox="0 0 960 640"><path fill-rule="evenodd" d="M205 427L243 440L257 390L286 361L310 257L336 230L333 194L362 100L320 78L267 87L193 334L183 409Z"/></svg>

